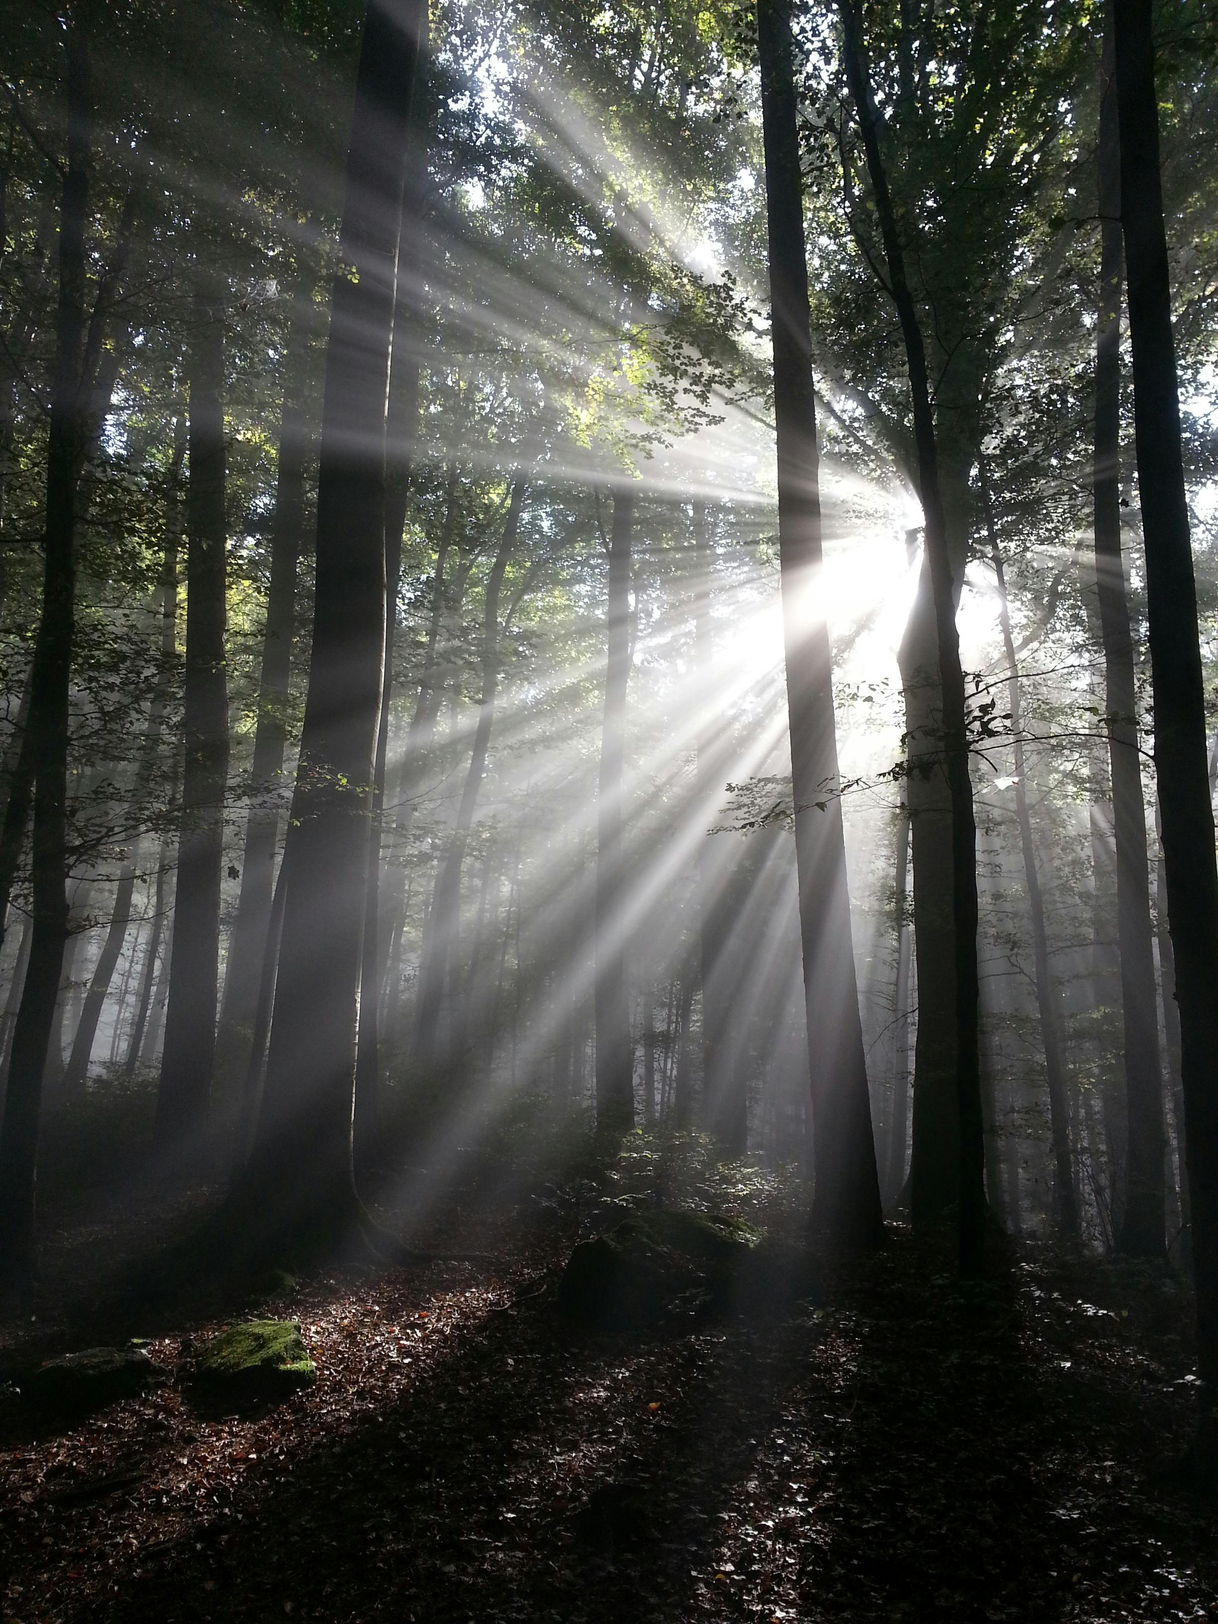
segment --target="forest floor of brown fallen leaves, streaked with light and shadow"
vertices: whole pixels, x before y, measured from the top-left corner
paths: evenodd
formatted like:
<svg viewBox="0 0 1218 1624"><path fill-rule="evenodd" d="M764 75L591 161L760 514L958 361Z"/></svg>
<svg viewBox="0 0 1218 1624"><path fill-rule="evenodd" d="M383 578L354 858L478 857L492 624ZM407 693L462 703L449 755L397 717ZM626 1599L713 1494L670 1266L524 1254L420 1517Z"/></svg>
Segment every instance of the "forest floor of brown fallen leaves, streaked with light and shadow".
<svg viewBox="0 0 1218 1624"><path fill-rule="evenodd" d="M961 1293L893 1226L817 1304L577 1335L552 1285L580 1202L533 1197L468 1218L500 1263L229 1304L299 1320L317 1361L257 1413L200 1408L175 1376L229 1322L216 1302L143 1327L70 1312L91 1267L164 1226L151 1195L127 1228L49 1215L47 1301L0 1361L143 1328L166 1380L63 1427L8 1389L5 1624L1218 1614L1218 1515L1169 1471L1192 1419L1173 1276L1015 1244Z"/></svg>

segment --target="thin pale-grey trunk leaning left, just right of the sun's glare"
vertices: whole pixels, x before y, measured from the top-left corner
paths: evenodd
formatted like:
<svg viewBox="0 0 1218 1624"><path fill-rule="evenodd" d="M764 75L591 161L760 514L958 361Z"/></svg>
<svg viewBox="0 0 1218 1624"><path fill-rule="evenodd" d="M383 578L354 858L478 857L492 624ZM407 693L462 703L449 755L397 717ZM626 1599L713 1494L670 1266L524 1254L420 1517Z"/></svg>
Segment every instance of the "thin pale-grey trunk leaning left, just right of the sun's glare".
<svg viewBox="0 0 1218 1624"><path fill-rule="evenodd" d="M1054 1220L1060 1234L1073 1237L1078 1234L1078 1194L1075 1190L1073 1160L1070 1156L1070 1101L1065 1093L1062 1026L1057 1017L1057 997L1052 986L1052 976L1049 973L1049 939L1044 929L1044 896L1041 895L1041 875L1036 867L1036 841L1033 840L1031 814L1028 810L1028 776L1026 758L1023 754L1020 672L1015 656L1015 638L1010 630L1007 575L1002 567L1002 552L999 549L989 479L984 463L981 464L981 497L986 508L986 529L989 531L989 555L994 565L994 577L999 590L999 627L1002 630L1002 650L1007 656L1007 703L1010 706L1010 731L1015 750L1015 817L1020 825L1023 883L1028 888L1033 966L1036 976L1036 1012L1041 1021L1041 1044L1044 1047L1044 1080L1049 1088L1049 1130L1052 1135L1054 1163Z"/></svg>

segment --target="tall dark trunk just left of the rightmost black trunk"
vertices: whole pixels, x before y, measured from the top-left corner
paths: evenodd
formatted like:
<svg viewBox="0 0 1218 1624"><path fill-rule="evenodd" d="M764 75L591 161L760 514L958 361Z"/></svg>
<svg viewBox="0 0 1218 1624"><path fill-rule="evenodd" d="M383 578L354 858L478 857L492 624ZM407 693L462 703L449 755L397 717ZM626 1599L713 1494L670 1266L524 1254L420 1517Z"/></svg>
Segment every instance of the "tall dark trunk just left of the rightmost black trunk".
<svg viewBox="0 0 1218 1624"><path fill-rule="evenodd" d="M1117 950L1125 1033L1125 1187L1117 1247L1163 1257L1163 1077L1150 919L1150 856L1137 729L1134 638L1121 555L1121 145L1111 8L1099 102L1099 320L1095 365L1095 564L1104 643L1108 757L1116 835ZM1117 1177L1117 1169L1112 1169Z"/></svg>

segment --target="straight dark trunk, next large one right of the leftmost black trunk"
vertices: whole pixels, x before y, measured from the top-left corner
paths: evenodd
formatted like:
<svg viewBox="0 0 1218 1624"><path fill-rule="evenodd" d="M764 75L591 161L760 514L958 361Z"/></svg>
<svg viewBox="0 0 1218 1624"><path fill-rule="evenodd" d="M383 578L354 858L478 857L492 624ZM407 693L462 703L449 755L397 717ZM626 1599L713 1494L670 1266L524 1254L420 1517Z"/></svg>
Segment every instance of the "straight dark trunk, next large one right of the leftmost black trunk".
<svg viewBox="0 0 1218 1624"><path fill-rule="evenodd" d="M222 291L197 287L192 310L185 755L156 1132L162 1148L193 1155L201 1148L208 1122L216 1057L229 710L224 666Z"/></svg>

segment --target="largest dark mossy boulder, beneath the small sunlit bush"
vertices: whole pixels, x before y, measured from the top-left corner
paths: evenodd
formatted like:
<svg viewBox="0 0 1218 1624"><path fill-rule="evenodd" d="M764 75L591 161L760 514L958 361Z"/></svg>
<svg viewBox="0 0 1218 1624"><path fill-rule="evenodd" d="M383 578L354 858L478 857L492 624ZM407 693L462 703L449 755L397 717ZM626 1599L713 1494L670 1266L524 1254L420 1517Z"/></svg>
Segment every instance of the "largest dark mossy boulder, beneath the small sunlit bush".
<svg viewBox="0 0 1218 1624"><path fill-rule="evenodd" d="M810 1254L742 1218L646 1208L572 1250L559 1304L580 1324L612 1328L682 1304L758 1312L815 1285Z"/></svg>

